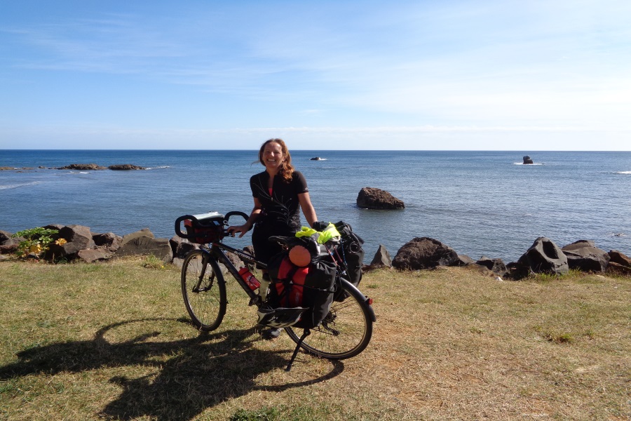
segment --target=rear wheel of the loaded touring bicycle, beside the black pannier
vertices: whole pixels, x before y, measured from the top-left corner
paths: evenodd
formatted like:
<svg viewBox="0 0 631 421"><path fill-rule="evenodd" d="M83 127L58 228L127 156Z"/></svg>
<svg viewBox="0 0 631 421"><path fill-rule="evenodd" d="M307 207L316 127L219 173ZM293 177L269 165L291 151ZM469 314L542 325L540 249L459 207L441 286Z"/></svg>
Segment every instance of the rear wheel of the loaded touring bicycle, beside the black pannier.
<svg viewBox="0 0 631 421"><path fill-rule="evenodd" d="M341 279L341 293L348 294L342 301L334 301L329 314L319 326L311 329L301 348L309 354L325 359L348 359L360 354L372 338L374 313L367 298L346 279ZM302 329L285 328L287 335L299 342Z"/></svg>

